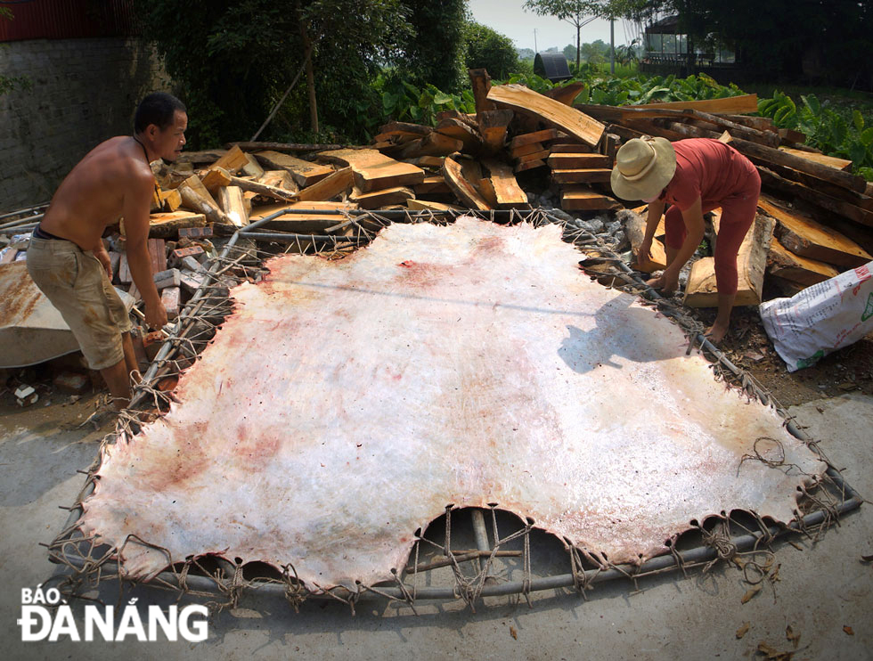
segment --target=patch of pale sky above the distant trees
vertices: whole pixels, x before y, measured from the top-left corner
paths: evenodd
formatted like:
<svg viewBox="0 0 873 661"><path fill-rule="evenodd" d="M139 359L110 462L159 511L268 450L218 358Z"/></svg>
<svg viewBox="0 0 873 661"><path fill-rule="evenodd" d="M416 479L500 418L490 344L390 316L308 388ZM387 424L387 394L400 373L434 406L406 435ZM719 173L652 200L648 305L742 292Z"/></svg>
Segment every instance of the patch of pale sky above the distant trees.
<svg viewBox="0 0 873 661"><path fill-rule="evenodd" d="M576 29L570 23L551 16L537 16L522 9L524 0L468 0L469 11L477 23L482 23L502 35L510 37L516 48L544 51L551 46L563 50L568 44L575 45ZM616 20L616 46L627 44L633 35L625 35L624 23ZM602 39L609 43L609 21L594 20L582 29L582 43Z"/></svg>

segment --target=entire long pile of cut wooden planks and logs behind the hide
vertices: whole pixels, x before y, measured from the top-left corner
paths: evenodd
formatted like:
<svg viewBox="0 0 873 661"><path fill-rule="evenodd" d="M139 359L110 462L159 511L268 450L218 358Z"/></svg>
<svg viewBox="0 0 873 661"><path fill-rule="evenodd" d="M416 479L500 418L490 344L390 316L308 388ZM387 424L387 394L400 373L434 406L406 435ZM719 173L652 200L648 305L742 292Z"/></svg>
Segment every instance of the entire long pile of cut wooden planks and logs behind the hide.
<svg viewBox="0 0 873 661"><path fill-rule="evenodd" d="M157 173L161 191L151 236L171 240L179 228L206 224L228 233L286 207L310 211L271 224L294 233L327 232L336 216L326 209L528 208L518 177L534 191L551 185L567 211L632 208L636 202L625 205L610 190L616 151L633 137L660 135L721 139L762 175L762 217L741 250L740 300L760 302L764 273L783 288L799 289L873 258L873 188L848 171L848 161L817 153L804 145L804 135L752 116L754 94L632 107L572 105L579 84L538 94L492 86L484 69L469 74L475 113L445 111L435 126L389 122L364 147L233 143L227 150L183 154ZM639 223L626 228L629 237L640 238ZM657 241L653 255L640 267L663 268ZM713 283L711 260L702 260L687 288L689 305L709 305Z"/></svg>

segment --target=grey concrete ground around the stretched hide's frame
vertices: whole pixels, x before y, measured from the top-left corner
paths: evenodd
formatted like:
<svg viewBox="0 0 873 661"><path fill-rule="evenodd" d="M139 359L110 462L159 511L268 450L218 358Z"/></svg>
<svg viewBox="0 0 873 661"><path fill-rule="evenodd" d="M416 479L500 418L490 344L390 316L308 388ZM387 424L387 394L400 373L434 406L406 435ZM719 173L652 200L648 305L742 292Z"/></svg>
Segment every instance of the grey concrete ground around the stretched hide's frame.
<svg viewBox="0 0 873 661"><path fill-rule="evenodd" d="M873 505L864 505L817 543L777 543L779 580L747 603L749 587L735 567L688 577L670 573L640 583L601 583L585 601L574 593L539 592L524 600L495 598L472 612L462 603L409 608L307 601L295 613L284 600L254 593L240 608L209 621L202 642L22 642L16 620L20 591L58 571L38 543L61 530L84 483L76 472L94 460L102 433L73 428L89 402L37 403L0 414L0 641L7 659L748 659L766 658L760 643L795 659L873 658L871 567ZM790 411L861 495L873 493L873 398L824 398ZM106 430L104 430L106 431ZM114 600L117 586L104 584ZM172 596L134 593L140 605ZM127 598L127 597L126 597ZM747 632L738 637L738 629ZM787 627L800 635L787 639ZM774 657L775 658L775 657ZM788 658L779 657L779 658Z"/></svg>

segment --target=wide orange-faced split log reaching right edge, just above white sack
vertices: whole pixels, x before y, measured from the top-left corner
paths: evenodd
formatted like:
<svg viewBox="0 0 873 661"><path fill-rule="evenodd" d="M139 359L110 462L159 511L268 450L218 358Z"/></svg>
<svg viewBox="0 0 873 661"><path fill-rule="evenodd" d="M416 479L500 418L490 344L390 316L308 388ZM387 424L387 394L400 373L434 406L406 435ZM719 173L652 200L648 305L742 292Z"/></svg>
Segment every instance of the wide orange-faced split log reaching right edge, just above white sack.
<svg viewBox="0 0 873 661"><path fill-rule="evenodd" d="M855 268L873 257L857 243L800 211L789 211L762 197L758 207L779 221L776 237L795 255L831 265Z"/></svg>

